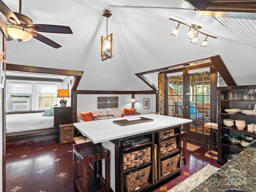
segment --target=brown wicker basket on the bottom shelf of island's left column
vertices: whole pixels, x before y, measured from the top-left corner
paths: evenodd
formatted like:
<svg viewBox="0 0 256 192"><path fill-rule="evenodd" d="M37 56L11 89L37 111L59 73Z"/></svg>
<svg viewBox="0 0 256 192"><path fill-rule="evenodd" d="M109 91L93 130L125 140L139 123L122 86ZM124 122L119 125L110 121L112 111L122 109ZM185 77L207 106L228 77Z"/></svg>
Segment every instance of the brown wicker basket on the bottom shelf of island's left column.
<svg viewBox="0 0 256 192"><path fill-rule="evenodd" d="M148 182L151 165L131 174L124 174L124 187L127 192L130 192L136 188L139 188L143 184Z"/></svg>

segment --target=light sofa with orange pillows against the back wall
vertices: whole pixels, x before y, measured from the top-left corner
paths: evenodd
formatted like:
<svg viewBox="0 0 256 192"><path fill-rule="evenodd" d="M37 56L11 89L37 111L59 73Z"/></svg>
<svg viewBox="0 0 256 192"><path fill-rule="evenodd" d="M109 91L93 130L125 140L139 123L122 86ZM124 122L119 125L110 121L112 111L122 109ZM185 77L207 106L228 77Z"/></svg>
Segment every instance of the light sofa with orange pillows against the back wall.
<svg viewBox="0 0 256 192"><path fill-rule="evenodd" d="M136 109L114 109L114 110L98 110L90 112L80 112L77 115L77 122L91 121L92 117L97 116L98 119L110 119L123 117L124 114L135 113ZM111 116L112 115L112 116Z"/></svg>

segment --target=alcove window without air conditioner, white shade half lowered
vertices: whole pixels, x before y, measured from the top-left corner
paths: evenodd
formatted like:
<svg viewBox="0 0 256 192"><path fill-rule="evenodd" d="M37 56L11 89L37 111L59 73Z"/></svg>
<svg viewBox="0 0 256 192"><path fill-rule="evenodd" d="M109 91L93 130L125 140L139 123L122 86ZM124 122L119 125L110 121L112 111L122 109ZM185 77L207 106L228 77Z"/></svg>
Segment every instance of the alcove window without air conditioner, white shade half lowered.
<svg viewBox="0 0 256 192"><path fill-rule="evenodd" d="M49 108L56 104L57 84L36 84L36 92L38 95L38 108Z"/></svg>

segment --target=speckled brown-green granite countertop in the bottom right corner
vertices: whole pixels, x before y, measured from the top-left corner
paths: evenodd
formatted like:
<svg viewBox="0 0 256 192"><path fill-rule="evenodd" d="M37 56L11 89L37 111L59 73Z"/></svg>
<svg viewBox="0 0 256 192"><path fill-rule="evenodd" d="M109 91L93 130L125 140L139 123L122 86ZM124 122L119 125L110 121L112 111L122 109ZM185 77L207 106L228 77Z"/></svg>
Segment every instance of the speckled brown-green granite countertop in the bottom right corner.
<svg viewBox="0 0 256 192"><path fill-rule="evenodd" d="M256 140L191 192L256 192ZM234 191L233 191L234 192Z"/></svg>

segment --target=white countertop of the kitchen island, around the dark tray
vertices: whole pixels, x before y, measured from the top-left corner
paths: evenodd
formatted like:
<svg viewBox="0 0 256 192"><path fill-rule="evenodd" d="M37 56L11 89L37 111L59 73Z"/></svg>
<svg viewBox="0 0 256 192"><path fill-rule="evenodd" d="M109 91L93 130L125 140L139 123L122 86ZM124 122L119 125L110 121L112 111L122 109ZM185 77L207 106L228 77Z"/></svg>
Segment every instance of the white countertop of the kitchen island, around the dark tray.
<svg viewBox="0 0 256 192"><path fill-rule="evenodd" d="M116 120L138 117L150 118L154 119L154 121L128 126L120 126L113 123L113 121ZM189 122L192 122L192 120L158 114L145 114L131 117L79 122L73 123L73 125L78 129L81 134L86 136L93 143L100 143L154 130L159 130L170 126L181 125Z"/></svg>

